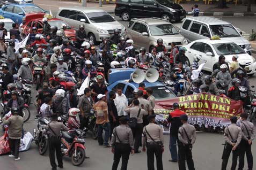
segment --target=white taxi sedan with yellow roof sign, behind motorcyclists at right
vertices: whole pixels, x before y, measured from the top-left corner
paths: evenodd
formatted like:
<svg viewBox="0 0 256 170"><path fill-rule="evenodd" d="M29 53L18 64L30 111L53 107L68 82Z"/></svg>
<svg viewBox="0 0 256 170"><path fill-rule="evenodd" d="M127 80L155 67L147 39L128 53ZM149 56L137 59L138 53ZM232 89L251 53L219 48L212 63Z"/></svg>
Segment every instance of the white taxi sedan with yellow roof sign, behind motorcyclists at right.
<svg viewBox="0 0 256 170"><path fill-rule="evenodd" d="M183 47L187 49L185 55L188 57L190 63L193 63L193 57L195 55L199 55L202 58L199 64L202 64L203 60L206 60L206 64L203 67L205 71L212 72L213 65L218 61L218 57L221 55L225 56L225 61L230 65L233 55L236 54L238 55L238 62L242 60L246 62L245 68L247 69L247 73L255 73L255 59L248 55L244 49L231 41L210 40L210 38L207 38L193 41Z"/></svg>

